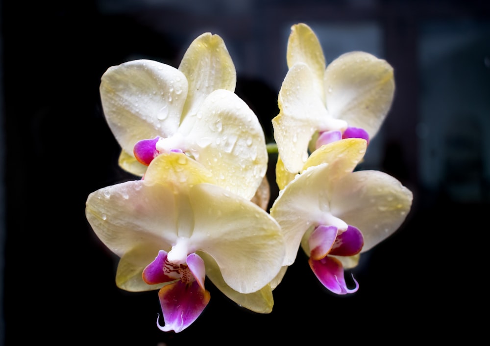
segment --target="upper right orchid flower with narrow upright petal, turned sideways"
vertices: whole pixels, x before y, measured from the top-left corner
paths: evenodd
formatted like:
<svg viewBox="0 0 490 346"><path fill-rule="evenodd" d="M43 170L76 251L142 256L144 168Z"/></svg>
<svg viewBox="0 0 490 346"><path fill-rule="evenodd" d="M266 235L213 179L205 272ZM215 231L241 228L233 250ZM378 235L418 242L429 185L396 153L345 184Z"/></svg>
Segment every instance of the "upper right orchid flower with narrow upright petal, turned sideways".
<svg viewBox="0 0 490 346"><path fill-rule="evenodd" d="M287 63L272 124L277 173L289 172L291 180L321 145L352 137L369 141L392 105L394 80L388 62L364 52L345 53L325 67L319 40L305 24L291 29Z"/></svg>

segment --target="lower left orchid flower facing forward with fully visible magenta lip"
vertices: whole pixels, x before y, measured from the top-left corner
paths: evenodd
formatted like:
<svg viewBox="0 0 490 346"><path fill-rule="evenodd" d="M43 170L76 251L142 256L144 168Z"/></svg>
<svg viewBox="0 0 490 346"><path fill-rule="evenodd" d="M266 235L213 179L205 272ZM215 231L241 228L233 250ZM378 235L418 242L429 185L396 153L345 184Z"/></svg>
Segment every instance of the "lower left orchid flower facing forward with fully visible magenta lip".
<svg viewBox="0 0 490 346"><path fill-rule="evenodd" d="M164 331L191 325L210 299L207 276L225 295L259 313L272 309L270 282L281 270L284 240L263 209L221 186L183 153L163 153L143 180L88 196L86 217L121 257L116 284L160 290Z"/></svg>

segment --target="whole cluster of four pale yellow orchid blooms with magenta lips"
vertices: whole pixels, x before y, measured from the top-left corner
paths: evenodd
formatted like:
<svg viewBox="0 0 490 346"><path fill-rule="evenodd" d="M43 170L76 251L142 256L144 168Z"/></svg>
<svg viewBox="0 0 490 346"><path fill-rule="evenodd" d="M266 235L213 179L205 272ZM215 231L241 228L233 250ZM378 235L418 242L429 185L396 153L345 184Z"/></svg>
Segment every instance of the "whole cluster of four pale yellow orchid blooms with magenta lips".
<svg viewBox="0 0 490 346"><path fill-rule="evenodd" d="M220 36L198 36L178 69L143 59L101 78L119 165L141 179L91 193L86 216L120 257L117 286L159 290L163 331L199 317L210 300L206 276L240 306L270 313L300 247L328 290L356 292L344 269L410 211L412 192L395 178L355 170L391 107L392 67L364 52L326 66L305 24L292 27L287 63L272 119L279 195L270 210L263 128L234 93Z"/></svg>

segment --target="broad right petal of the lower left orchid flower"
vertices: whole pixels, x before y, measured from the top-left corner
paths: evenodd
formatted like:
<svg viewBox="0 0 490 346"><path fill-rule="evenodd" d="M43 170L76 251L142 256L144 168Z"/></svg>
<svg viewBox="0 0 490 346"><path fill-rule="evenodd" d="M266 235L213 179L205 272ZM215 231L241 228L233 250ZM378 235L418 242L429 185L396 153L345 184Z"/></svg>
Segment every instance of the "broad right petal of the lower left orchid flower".
<svg viewBox="0 0 490 346"><path fill-rule="evenodd" d="M193 186L190 201L195 215L192 243L213 257L228 286L253 293L277 275L284 240L268 213L212 184Z"/></svg>

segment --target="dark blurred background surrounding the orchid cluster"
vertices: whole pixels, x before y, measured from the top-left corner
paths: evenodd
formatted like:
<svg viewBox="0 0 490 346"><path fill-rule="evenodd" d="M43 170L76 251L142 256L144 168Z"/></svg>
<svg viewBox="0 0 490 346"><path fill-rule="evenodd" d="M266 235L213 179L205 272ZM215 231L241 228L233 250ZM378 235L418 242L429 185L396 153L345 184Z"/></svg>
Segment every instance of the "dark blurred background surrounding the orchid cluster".
<svg viewBox="0 0 490 346"><path fill-rule="evenodd" d="M489 19L483 0L3 0L0 345L476 338L484 320L472 309L488 309ZM219 34L236 93L271 141L287 39L300 22L316 32L327 63L361 50L393 66L392 109L361 168L409 187L411 213L347 273L360 283L355 294L326 292L300 251L272 313L239 308L207 280L212 298L199 319L161 332L157 292L116 287L118 259L85 219L89 193L134 178L117 165L100 77L138 58L178 67L199 34Z"/></svg>

